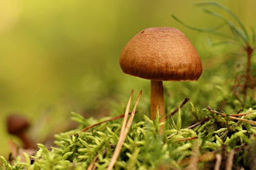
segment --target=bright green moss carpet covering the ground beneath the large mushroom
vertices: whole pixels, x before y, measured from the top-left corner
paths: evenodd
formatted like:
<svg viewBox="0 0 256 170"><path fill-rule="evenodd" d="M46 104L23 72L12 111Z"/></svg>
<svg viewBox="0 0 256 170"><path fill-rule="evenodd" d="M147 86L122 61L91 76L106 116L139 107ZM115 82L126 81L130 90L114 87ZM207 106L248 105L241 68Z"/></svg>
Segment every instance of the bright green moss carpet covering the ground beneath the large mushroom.
<svg viewBox="0 0 256 170"><path fill-rule="evenodd" d="M159 134L161 125L158 119L153 121L141 114L141 121L134 122L126 136L114 169L213 168L216 155L222 156L222 166L225 166L230 153L233 153L232 166L252 167L251 163L255 160L255 125L230 119L230 116L223 117L208 109L199 112L204 112L208 120L193 129L182 129L180 118L176 122L170 118L163 134ZM181 114L179 111L178 117ZM248 109L243 114L242 119L255 123L256 110ZM72 116L79 119L79 128L55 135L56 146L51 150L38 144L39 150L34 156L24 153L25 162L17 158L12 164L1 157L3 165L0 169L86 169L92 162L98 169L105 169L118 141L121 119L81 132L84 125L88 125L88 120L81 119L76 113Z"/></svg>

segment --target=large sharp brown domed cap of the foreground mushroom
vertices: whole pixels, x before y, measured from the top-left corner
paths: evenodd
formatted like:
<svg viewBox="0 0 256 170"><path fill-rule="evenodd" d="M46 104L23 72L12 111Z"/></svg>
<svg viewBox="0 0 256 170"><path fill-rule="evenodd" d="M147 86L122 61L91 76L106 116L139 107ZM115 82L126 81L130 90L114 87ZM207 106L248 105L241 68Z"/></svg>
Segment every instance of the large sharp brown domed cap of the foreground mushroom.
<svg viewBox="0 0 256 170"><path fill-rule="evenodd" d="M172 27L147 28L123 48L124 73L155 81L196 81L202 62L187 37Z"/></svg>

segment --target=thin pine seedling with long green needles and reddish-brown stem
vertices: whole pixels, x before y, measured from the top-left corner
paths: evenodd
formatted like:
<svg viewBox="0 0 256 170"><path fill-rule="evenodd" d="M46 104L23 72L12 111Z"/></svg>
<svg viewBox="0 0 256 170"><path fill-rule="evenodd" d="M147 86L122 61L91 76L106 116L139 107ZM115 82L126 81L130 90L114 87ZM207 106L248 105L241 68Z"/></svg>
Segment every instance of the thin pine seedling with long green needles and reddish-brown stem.
<svg viewBox="0 0 256 170"><path fill-rule="evenodd" d="M241 103L242 106L251 106L254 101L255 104L255 96L253 93L254 88L254 79L255 79L255 72L251 70L251 58L255 55L254 50L256 46L256 35L255 30L251 27L251 35L249 35L248 31L246 30L243 23L240 21L238 16L234 14L232 11L227 9L226 7L210 2L210 3L201 3L197 4L198 6L202 7L202 10L210 14L214 17L217 17L221 20L221 23L215 28L208 28L208 29L201 29L196 27L191 27L186 25L186 23L182 22L178 19L175 15L173 17L185 27L199 31L214 34L217 36L223 37L223 40L220 42L214 42L214 45L222 45L222 44L229 44L236 46L239 50L232 52L232 58L234 60L238 60L237 58L242 57L242 65L239 72L236 72L236 77L234 80L234 84L232 86L233 95L235 98ZM222 16L221 13L212 11L207 9L206 7L214 6L222 10L222 13L226 12L231 16L231 19L227 19ZM224 11L224 12L223 12ZM237 25L236 25L237 23ZM223 27L228 27L230 30L231 35L221 32L220 30ZM255 66L255 65L253 65Z"/></svg>

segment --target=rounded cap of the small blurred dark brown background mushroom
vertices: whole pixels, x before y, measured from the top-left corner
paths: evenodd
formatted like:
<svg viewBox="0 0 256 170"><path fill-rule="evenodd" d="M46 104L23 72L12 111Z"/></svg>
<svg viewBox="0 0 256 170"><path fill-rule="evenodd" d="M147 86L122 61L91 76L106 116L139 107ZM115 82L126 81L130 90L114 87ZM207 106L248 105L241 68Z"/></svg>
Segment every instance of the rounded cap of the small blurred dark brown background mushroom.
<svg viewBox="0 0 256 170"><path fill-rule="evenodd" d="M12 114L7 117L7 130L10 134L23 133L29 126L28 120L21 115Z"/></svg>

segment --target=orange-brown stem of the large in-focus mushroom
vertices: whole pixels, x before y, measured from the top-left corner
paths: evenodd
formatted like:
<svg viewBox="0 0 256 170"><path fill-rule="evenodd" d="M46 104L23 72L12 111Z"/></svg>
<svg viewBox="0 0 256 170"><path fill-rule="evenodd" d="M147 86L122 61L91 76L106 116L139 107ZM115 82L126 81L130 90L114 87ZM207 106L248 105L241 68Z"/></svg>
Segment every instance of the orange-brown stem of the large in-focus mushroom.
<svg viewBox="0 0 256 170"><path fill-rule="evenodd" d="M161 119L159 123L165 120L165 110L164 110L164 99L163 99L163 82L151 80L151 108L150 108L150 118L152 120L156 119L157 112Z"/></svg>

